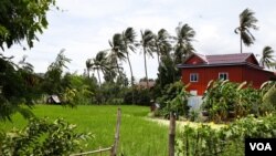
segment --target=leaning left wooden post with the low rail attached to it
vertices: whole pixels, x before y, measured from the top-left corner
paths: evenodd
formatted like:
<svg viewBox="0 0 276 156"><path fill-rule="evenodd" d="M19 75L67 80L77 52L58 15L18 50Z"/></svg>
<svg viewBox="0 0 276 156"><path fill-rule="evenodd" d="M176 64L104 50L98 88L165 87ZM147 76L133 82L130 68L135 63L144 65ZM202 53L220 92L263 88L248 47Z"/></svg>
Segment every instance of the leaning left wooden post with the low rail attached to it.
<svg viewBox="0 0 276 156"><path fill-rule="evenodd" d="M118 148L118 143L119 143L119 129L120 129L120 108L117 111L117 123L116 123L116 132L115 132L115 141L113 146L107 147L107 148L102 148L97 150L92 150L92 152L84 152L84 153L77 153L77 154L71 154L70 156L85 156L85 155L91 155L91 154L102 154L104 152L110 152L110 156L116 156L117 155L117 148Z"/></svg>

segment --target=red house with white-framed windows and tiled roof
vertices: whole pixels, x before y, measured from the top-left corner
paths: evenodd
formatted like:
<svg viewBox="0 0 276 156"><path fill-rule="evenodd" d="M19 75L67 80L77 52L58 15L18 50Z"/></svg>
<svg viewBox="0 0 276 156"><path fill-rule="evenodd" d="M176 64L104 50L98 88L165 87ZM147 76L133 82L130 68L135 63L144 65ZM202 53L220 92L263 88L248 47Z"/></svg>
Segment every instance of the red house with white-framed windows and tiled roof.
<svg viewBox="0 0 276 156"><path fill-rule="evenodd" d="M253 53L201 55L193 53L183 64L182 82L190 83L188 91L202 95L211 80L230 80L231 82L250 82L254 87L274 77L274 73L259 66Z"/></svg>

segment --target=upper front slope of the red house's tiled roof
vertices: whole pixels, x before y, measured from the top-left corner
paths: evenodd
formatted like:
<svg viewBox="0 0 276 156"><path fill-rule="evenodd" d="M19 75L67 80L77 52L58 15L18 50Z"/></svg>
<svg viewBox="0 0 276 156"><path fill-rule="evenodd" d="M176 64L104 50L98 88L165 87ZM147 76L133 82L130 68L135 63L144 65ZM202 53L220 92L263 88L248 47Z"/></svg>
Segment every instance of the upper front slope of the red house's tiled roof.
<svg viewBox="0 0 276 156"><path fill-rule="evenodd" d="M246 59L252 53L235 53L235 54L217 54L217 55L201 55L200 56L206 64L220 64L220 63L242 63L246 62Z"/></svg>

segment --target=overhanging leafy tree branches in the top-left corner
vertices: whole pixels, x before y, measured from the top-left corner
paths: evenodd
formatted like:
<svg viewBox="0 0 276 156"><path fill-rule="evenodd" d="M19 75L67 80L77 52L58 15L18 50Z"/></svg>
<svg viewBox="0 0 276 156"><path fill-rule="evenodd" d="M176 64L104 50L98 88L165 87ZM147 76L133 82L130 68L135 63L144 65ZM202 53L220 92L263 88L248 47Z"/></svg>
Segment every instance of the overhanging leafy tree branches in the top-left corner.
<svg viewBox="0 0 276 156"><path fill-rule="evenodd" d="M1 0L0 1L0 48L26 41L30 48L36 33L47 27L46 12L55 0Z"/></svg>

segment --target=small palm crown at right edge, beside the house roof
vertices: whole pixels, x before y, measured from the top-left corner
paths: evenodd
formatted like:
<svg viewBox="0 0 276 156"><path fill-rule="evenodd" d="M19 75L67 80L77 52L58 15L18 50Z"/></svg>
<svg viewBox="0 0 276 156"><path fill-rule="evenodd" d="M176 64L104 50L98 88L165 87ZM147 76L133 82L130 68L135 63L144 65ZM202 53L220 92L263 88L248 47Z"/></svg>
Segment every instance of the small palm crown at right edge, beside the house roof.
<svg viewBox="0 0 276 156"><path fill-rule="evenodd" d="M259 64L264 67L270 69L273 66L274 60L274 50L270 46L265 46L263 49L262 58Z"/></svg>

